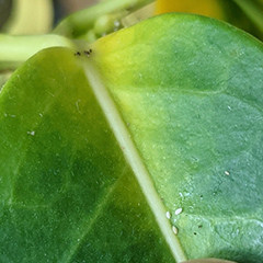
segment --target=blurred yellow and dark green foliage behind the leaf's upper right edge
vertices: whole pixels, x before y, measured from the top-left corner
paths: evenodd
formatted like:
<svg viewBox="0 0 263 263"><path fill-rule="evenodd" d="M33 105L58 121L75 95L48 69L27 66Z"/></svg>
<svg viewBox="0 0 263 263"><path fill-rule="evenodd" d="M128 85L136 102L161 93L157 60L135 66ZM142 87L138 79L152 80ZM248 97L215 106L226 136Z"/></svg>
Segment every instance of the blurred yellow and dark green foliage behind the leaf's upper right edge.
<svg viewBox="0 0 263 263"><path fill-rule="evenodd" d="M186 12L215 18L263 39L262 0L157 0L156 12Z"/></svg>

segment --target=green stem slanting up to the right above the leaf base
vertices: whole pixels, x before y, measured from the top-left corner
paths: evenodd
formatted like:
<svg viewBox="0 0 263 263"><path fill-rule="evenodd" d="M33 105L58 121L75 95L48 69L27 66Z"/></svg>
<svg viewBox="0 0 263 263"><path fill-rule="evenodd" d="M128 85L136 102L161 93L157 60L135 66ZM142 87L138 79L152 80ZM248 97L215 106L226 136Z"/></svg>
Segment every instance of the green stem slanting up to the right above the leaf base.
<svg viewBox="0 0 263 263"><path fill-rule="evenodd" d="M62 20L57 27L55 27L54 33L65 35L68 37L78 37L90 31L96 19L104 15L125 9L135 11L153 0L111 0L103 1L91 8L76 12L65 20Z"/></svg>

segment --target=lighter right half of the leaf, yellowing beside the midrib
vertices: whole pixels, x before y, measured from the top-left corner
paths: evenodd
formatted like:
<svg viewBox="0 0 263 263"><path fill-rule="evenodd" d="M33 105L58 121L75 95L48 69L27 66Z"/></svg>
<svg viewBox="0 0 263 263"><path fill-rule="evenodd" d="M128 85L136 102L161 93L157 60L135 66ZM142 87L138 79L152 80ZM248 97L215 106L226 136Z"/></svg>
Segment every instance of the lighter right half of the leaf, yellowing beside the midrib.
<svg viewBox="0 0 263 263"><path fill-rule="evenodd" d="M262 44L214 20L171 14L95 48L188 258L261 261Z"/></svg>

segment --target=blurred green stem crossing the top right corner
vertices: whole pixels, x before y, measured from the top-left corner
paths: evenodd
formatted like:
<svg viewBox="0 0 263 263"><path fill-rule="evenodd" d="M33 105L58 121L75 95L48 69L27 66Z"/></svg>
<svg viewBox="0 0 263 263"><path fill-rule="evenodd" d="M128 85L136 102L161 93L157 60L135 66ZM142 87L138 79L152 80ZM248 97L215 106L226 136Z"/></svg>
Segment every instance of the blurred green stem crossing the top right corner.
<svg viewBox="0 0 263 263"><path fill-rule="evenodd" d="M256 0L233 0L250 20L263 32L263 4Z"/></svg>

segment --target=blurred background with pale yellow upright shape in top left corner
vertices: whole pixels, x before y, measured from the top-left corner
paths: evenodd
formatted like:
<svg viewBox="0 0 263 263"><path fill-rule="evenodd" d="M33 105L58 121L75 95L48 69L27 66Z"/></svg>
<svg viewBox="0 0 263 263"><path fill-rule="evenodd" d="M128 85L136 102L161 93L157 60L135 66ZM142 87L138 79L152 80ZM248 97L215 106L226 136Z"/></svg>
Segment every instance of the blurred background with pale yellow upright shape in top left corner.
<svg viewBox="0 0 263 263"><path fill-rule="evenodd" d="M10 33L14 23L21 23L18 34L46 33L62 18L96 2L98 0L0 0L0 31Z"/></svg>

